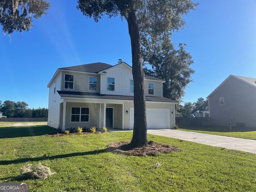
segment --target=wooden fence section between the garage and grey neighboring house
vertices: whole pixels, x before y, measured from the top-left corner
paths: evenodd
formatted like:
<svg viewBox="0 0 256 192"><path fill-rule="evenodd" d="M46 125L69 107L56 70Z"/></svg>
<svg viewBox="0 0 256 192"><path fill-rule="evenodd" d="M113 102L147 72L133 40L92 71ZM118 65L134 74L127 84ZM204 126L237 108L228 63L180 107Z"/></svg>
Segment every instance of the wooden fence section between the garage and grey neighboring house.
<svg viewBox="0 0 256 192"><path fill-rule="evenodd" d="M210 126L211 117L176 117L176 125L180 127Z"/></svg>

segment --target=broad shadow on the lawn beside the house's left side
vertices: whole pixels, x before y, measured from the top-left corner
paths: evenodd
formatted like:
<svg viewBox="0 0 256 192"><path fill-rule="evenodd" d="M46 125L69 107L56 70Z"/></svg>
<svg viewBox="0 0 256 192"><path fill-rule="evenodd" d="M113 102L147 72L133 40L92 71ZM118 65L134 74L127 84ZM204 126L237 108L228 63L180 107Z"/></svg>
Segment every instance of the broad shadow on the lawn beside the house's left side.
<svg viewBox="0 0 256 192"><path fill-rule="evenodd" d="M0 127L0 139L33 137L45 134L55 134L58 130L45 125L28 127Z"/></svg>

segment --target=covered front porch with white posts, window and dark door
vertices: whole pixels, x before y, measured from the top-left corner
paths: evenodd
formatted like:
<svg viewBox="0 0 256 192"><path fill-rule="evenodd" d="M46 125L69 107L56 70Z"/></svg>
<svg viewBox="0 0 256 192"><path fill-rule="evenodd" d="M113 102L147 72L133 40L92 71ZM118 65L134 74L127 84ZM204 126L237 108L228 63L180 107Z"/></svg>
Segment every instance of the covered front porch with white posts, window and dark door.
<svg viewBox="0 0 256 192"><path fill-rule="evenodd" d="M97 126L124 129L124 102L102 99L63 99L60 103L60 128L62 131Z"/></svg>

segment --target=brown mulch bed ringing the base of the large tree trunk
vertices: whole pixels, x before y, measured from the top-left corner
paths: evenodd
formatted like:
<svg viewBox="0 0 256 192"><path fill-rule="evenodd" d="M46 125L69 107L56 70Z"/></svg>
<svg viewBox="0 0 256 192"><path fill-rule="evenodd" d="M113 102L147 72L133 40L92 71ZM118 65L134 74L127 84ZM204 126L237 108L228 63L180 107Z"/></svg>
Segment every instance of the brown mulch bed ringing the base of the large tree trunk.
<svg viewBox="0 0 256 192"><path fill-rule="evenodd" d="M171 152L180 152L181 149L175 146L165 145L149 141L147 146L131 148L128 141L112 143L108 146L108 150L117 154L132 156L157 156L161 153L167 154Z"/></svg>

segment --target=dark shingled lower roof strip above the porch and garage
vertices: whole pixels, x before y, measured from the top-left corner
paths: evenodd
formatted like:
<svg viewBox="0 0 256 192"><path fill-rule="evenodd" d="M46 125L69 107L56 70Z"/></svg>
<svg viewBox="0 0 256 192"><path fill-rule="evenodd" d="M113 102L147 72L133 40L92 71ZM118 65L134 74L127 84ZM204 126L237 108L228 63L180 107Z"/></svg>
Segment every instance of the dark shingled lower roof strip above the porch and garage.
<svg viewBox="0 0 256 192"><path fill-rule="evenodd" d="M88 93L88 92L77 92L77 91L57 91L60 97L70 97L70 98L93 98L93 99L115 99L115 100L131 100L133 101L133 96L124 96L124 95L106 95L100 93ZM165 97L147 97L146 101L155 101L155 102L175 102L171 99Z"/></svg>

